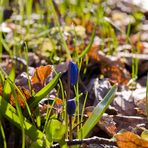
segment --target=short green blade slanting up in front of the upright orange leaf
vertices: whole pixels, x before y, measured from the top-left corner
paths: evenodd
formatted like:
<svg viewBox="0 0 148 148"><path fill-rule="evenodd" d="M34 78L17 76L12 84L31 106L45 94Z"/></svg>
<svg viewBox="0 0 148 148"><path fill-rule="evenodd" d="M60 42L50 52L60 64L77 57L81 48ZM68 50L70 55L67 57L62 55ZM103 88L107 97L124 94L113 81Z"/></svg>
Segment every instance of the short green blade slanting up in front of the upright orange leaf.
<svg viewBox="0 0 148 148"><path fill-rule="evenodd" d="M37 92L31 99L29 103L30 107L36 107L38 103L49 94L49 92L55 87L58 80L60 78L60 74L57 74L44 88L42 88L39 92Z"/></svg>

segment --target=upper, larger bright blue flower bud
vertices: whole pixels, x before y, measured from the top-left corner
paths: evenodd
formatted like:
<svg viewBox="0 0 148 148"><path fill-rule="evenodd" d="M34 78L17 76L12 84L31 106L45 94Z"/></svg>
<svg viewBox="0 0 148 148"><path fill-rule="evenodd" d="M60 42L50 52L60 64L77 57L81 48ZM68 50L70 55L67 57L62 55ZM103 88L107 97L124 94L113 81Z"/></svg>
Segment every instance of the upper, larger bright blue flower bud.
<svg viewBox="0 0 148 148"><path fill-rule="evenodd" d="M74 62L70 61L69 70L70 70L70 84L73 86L77 83L78 80L78 66Z"/></svg>

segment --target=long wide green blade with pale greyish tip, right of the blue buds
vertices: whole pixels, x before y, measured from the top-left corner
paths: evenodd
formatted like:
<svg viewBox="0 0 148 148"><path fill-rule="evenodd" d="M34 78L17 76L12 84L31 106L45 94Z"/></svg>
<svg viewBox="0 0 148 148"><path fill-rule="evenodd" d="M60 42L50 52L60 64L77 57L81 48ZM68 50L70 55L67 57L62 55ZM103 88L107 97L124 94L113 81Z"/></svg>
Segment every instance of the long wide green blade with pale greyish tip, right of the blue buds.
<svg viewBox="0 0 148 148"><path fill-rule="evenodd" d="M116 89L117 86L114 85L111 88L111 90L107 93L107 95L104 97L104 99L100 103L98 103L98 105L94 108L92 115L87 119L87 121L79 131L79 138L85 138L92 130L92 128L97 124L97 122L100 120L109 104L112 102Z"/></svg>

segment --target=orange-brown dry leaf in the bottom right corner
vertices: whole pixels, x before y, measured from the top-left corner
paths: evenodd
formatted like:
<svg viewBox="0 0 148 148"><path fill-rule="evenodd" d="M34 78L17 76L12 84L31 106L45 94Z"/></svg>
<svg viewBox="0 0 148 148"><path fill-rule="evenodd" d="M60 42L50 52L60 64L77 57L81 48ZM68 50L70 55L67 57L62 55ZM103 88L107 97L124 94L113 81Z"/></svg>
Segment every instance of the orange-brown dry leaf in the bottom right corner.
<svg viewBox="0 0 148 148"><path fill-rule="evenodd" d="M117 134L115 138L119 148L148 148L148 141L132 132Z"/></svg>

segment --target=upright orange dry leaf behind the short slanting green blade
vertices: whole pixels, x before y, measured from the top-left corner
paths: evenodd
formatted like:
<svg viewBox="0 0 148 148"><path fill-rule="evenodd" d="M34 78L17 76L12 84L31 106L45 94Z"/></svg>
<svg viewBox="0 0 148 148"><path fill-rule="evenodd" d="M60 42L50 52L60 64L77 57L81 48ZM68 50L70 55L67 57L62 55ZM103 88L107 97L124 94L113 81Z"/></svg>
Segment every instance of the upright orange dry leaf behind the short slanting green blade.
<svg viewBox="0 0 148 148"><path fill-rule="evenodd" d="M37 67L34 72L34 75L31 78L31 84L33 88L36 89L36 87L38 88L38 86L39 86L39 89L42 88L45 84L47 77L51 73L52 73L52 66L50 65Z"/></svg>

